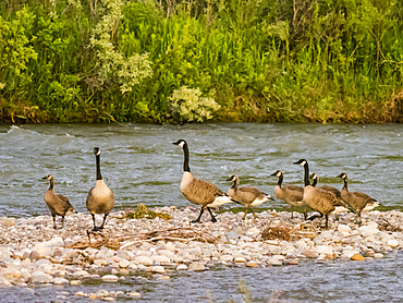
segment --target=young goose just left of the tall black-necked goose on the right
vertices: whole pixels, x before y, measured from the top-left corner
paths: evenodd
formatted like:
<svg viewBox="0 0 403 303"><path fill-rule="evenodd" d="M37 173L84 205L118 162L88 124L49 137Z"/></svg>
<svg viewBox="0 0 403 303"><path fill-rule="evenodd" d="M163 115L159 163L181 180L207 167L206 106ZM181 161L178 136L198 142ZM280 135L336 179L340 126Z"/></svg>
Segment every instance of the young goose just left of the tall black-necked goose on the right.
<svg viewBox="0 0 403 303"><path fill-rule="evenodd" d="M281 170L276 170L270 175L279 178L274 186L274 196L279 199L285 201L291 206L291 219L294 218L294 206L302 206L304 197L304 189L298 185L282 185L283 173ZM306 214L304 214L306 220Z"/></svg>

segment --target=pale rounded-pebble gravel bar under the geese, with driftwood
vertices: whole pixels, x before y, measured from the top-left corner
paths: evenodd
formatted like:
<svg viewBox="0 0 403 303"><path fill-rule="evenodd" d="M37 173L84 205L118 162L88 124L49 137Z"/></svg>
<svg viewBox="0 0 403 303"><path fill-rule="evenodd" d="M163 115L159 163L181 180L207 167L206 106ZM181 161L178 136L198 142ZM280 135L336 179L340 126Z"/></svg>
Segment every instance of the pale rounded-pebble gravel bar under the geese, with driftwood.
<svg viewBox="0 0 403 303"><path fill-rule="evenodd" d="M131 219L131 211L110 215L102 233L87 231L90 216L66 217L64 229L53 230L51 216L2 218L0 283L2 287L33 288L39 284L81 284L88 280L124 282L127 277L169 280L179 271L205 271L215 266L292 266L306 262L369 262L403 249L403 213L370 211L363 225L354 214L332 217L328 230L316 219L304 223L302 216L267 210L257 219L243 213L225 211L212 223L191 225L198 209L154 208L167 218ZM100 218L99 218L100 219ZM60 225L60 218L58 220ZM315 264L312 265L313 267ZM139 298L141 293L88 293L77 296L113 301L118 296Z"/></svg>

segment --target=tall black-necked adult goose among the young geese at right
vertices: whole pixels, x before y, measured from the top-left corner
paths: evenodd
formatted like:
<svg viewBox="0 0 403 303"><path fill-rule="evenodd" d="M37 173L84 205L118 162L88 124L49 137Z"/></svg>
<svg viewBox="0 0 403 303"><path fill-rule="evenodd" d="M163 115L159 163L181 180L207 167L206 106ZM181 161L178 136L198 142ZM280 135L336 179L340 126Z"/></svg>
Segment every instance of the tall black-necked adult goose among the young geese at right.
<svg viewBox="0 0 403 303"><path fill-rule="evenodd" d="M334 210L334 204L337 204L338 197L331 193L321 189L316 189L309 183L309 166L305 159L300 159L294 165L301 165L304 167L304 197L303 202L306 203L312 209L319 211L326 218L325 228L328 228L329 214Z"/></svg>

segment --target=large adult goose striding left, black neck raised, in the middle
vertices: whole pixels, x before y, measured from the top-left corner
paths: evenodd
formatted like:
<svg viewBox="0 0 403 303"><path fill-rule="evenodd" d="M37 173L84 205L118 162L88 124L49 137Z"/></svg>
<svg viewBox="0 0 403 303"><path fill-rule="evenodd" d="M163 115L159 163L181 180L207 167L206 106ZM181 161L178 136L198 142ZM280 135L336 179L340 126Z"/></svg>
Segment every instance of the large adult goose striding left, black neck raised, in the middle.
<svg viewBox="0 0 403 303"><path fill-rule="evenodd" d="M184 153L183 162L183 177L181 181L181 193L191 203L200 205L200 215L192 222L199 222L205 208L210 213L211 221L216 222L217 219L212 215L210 207L232 203L233 201L223 192L221 192L215 184L199 180L193 177L191 168L188 167L188 147L184 140L179 140L172 144L182 147Z"/></svg>

